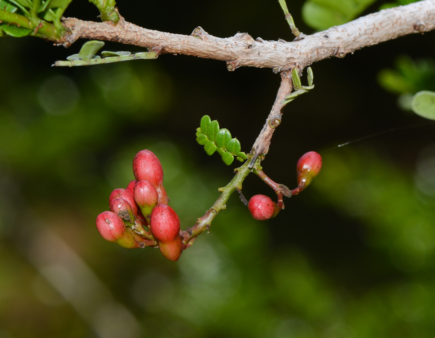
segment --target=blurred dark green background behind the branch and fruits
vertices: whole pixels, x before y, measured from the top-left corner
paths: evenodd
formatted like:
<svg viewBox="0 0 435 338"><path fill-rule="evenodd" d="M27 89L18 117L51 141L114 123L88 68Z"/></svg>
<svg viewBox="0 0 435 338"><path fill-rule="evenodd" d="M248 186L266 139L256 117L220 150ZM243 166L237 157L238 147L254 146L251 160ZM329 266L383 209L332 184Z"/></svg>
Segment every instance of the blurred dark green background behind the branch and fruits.
<svg viewBox="0 0 435 338"><path fill-rule="evenodd" d="M363 14L382 5L370 3ZM292 39L276 1L118 6L155 30L190 34L200 25L220 37ZM288 2L298 28L312 33L302 6ZM84 0L65 13L97 15ZM434 37L314 64L315 89L285 108L262 163L273 180L294 188L307 151L417 126L322 153L319 176L272 220L253 220L232 196L176 263L105 242L97 214L147 148L161 160L182 228L192 226L237 166L196 143L201 116L249 151L279 75L173 55L55 69L83 41L64 49L0 38L0 338L435 337L435 125L406 111L403 96L433 89ZM274 196L253 175L243 192Z"/></svg>

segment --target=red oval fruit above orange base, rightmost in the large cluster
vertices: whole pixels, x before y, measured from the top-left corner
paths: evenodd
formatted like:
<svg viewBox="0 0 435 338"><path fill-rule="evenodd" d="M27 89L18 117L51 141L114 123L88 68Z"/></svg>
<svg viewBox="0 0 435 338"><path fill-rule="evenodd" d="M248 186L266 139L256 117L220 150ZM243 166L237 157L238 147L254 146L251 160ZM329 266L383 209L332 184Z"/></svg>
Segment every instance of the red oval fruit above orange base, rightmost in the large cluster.
<svg viewBox="0 0 435 338"><path fill-rule="evenodd" d="M174 240L180 233L180 219L174 209L166 204L157 204L151 212L151 232L159 241Z"/></svg>

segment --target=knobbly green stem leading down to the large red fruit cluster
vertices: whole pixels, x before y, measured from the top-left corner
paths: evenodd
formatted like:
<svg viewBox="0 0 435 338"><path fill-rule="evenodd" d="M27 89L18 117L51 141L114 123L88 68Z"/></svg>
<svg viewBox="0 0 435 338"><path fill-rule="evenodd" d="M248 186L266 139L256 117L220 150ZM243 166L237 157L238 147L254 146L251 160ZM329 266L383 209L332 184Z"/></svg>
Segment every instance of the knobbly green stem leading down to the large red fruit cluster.
<svg viewBox="0 0 435 338"><path fill-rule="evenodd" d="M259 165L261 160L262 158L258 158L255 161L254 165ZM226 203L230 198L231 194L234 193L236 189L242 189L242 183L244 179L252 171L252 169L249 167L249 163L251 161L252 158L249 158L248 161L246 161L241 167L234 169L234 172L236 174L234 175L230 183L228 183L225 187L218 189L221 192L221 196L219 196L216 202L214 202L213 206L209 210L207 210L203 217L198 218L196 224L193 227L187 228L186 231L181 232L183 244L185 245L185 247L191 246L191 244L199 234L201 234L205 230L208 230L214 217L216 217L216 215L220 211L227 208Z"/></svg>

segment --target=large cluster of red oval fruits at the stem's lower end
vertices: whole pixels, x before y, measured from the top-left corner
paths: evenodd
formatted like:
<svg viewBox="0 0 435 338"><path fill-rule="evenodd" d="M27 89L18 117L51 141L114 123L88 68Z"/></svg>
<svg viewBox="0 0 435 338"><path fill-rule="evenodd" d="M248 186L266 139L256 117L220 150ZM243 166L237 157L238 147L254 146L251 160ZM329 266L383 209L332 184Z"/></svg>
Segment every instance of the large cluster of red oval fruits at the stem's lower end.
<svg viewBox="0 0 435 338"><path fill-rule="evenodd" d="M97 229L105 240L127 249L158 245L163 256L177 261L183 250L180 220L167 205L159 159L147 149L139 151L133 173L136 180L110 194L110 211L98 215Z"/></svg>

